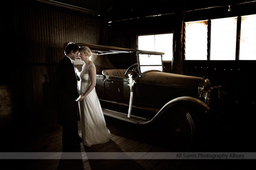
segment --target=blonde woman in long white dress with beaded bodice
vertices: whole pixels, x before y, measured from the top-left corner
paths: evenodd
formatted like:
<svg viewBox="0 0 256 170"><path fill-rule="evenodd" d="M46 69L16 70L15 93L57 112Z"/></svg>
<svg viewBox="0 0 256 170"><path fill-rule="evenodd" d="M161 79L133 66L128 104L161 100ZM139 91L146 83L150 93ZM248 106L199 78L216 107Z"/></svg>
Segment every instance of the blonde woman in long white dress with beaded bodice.
<svg viewBox="0 0 256 170"><path fill-rule="evenodd" d="M89 59L90 48L83 46L79 52L79 57L84 62L78 84L79 94L84 93L84 99L79 102L83 144L86 146L103 144L110 140L111 134L106 126L100 101L95 91L96 67Z"/></svg>

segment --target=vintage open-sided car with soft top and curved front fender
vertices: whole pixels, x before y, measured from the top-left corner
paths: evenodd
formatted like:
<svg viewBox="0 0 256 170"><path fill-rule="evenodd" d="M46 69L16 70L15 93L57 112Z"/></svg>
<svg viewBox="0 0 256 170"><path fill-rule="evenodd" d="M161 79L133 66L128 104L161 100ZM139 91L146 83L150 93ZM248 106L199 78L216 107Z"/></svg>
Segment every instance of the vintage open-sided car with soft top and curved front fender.
<svg viewBox="0 0 256 170"><path fill-rule="evenodd" d="M172 143L182 147L194 145L204 131L214 126L221 86L211 87L204 77L164 73L161 52L78 45L92 51L97 72L95 88L104 115L133 124L162 126ZM74 64L79 74L84 63L76 60ZM128 74L135 81L131 104Z"/></svg>

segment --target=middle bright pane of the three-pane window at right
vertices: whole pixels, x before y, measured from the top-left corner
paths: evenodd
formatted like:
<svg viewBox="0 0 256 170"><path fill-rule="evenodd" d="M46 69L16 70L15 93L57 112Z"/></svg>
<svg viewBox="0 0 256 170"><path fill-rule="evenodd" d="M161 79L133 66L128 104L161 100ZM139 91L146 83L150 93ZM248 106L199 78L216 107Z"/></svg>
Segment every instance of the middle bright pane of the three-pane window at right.
<svg viewBox="0 0 256 170"><path fill-rule="evenodd" d="M211 20L210 60L236 60L237 17Z"/></svg>

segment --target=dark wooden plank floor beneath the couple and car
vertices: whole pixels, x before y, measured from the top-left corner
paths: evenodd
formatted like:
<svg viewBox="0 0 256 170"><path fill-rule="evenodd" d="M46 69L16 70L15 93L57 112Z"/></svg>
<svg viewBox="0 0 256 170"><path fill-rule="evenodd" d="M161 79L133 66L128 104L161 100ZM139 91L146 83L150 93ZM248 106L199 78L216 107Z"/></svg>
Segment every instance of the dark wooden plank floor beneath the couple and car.
<svg viewBox="0 0 256 170"><path fill-rule="evenodd" d="M170 147L168 134L150 126L138 126L105 116L111 140L91 147L81 143L81 153L86 152L177 152ZM80 129L80 121L79 129ZM233 126L224 129L228 136L216 139L211 146L197 148L196 152L250 152L243 139L235 136ZM243 130L237 131L238 133ZM80 133L80 130L79 130ZM1 131L1 152L60 152L62 157L62 127L55 124L43 128L34 122L33 126L21 126ZM80 133L81 135L81 133ZM233 137L232 139L230 137ZM245 135L242 135L243 137ZM166 138L167 137L167 138ZM235 140L237 138L237 140ZM219 142L218 142L219 141ZM243 145L242 149L240 145ZM207 144L207 142L206 142ZM249 142L251 145L251 142ZM255 146L255 145L254 145ZM251 147L251 146L250 146ZM225 151L223 151L223 149ZM231 150L228 150L231 149ZM255 150L253 149L253 152ZM211 159L1 159L3 169L254 169L255 160L211 160Z"/></svg>

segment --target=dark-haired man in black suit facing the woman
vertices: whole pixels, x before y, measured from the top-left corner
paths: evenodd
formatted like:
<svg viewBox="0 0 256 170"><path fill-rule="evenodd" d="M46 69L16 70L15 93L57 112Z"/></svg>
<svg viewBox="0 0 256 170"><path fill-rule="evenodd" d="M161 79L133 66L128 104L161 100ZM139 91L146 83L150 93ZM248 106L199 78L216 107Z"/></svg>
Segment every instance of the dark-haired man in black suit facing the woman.
<svg viewBox="0 0 256 170"><path fill-rule="evenodd" d="M77 78L72 60L79 55L79 46L70 42L65 48L65 56L57 66L57 109L58 123L62 125L63 151L73 151L80 147L78 134L77 106L83 94L77 92Z"/></svg>

